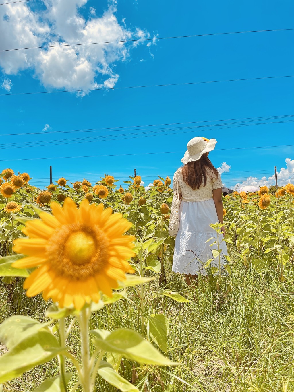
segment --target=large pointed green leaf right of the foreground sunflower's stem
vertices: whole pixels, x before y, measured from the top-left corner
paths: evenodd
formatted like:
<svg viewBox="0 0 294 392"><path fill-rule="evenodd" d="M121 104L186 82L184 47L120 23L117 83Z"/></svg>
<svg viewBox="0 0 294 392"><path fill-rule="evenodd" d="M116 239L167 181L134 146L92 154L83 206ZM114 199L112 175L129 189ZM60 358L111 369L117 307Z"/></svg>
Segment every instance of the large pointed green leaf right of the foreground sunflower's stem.
<svg viewBox="0 0 294 392"><path fill-rule="evenodd" d="M142 336L131 329L120 328L111 332L105 339L101 338L101 332L96 334L95 345L102 350L122 354L125 358L140 364L149 365L178 365L165 358L156 348Z"/></svg>

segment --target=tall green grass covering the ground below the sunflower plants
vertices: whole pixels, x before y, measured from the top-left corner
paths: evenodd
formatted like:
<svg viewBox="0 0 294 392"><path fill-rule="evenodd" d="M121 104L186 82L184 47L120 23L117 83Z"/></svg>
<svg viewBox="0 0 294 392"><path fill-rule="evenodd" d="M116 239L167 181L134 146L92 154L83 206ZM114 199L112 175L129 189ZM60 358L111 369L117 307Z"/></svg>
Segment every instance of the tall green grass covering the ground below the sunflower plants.
<svg viewBox="0 0 294 392"><path fill-rule="evenodd" d="M238 254L231 252L231 259ZM168 288L189 298L177 303L158 296L148 301L149 313L163 312L169 319L169 351L165 353L181 366L136 367L123 360L120 374L142 391L293 391L294 390L294 267L286 267L288 281L278 281L276 270L250 274L239 261L231 265L232 277L220 290L205 279L197 287L187 287L166 265ZM155 283L154 283L155 282ZM145 292L160 289L157 281L145 285ZM0 318L24 314L44 321L48 304L42 298L25 297L21 282L7 288L0 283ZM12 294L11 294L12 291ZM91 328L118 327L139 330L138 298L129 289L129 298L107 305L91 319ZM76 354L78 325L74 325L69 345ZM70 362L67 362L70 366ZM29 391L43 379L58 373L51 361L11 382L11 390ZM14 388L14 389L13 389ZM116 389L97 379L97 391Z"/></svg>

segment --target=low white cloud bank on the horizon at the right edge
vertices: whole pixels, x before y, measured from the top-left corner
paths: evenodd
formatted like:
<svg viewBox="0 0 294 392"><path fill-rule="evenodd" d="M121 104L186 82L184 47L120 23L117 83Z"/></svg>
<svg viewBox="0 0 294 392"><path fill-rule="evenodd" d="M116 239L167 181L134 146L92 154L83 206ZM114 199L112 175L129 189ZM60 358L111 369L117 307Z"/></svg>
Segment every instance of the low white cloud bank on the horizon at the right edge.
<svg viewBox="0 0 294 392"><path fill-rule="evenodd" d="M277 172L277 179L278 185L283 186L287 183L294 183L294 159L291 160L290 158L286 158L286 169L281 167L281 170ZM262 186L262 185L276 185L275 175L270 177L253 177L250 176L247 180L243 181L242 183L237 183L236 186L243 187L245 185L255 185L255 186Z"/></svg>

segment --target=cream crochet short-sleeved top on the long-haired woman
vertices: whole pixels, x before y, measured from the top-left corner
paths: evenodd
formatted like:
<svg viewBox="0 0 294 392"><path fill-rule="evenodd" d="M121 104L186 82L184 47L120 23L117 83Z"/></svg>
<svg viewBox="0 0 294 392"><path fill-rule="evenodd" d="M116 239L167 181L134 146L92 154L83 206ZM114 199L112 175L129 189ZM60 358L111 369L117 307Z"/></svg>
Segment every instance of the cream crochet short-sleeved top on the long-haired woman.
<svg viewBox="0 0 294 392"><path fill-rule="evenodd" d="M207 182L204 186L204 179L199 189L193 189L185 183L181 173L182 168L178 169L174 173L172 181L172 190L175 193L181 193L183 201L201 201L212 199L212 190L222 187L221 177L218 174L218 178L215 178L211 169L207 169ZM178 173L178 175L176 175ZM176 178L178 181L176 181Z"/></svg>

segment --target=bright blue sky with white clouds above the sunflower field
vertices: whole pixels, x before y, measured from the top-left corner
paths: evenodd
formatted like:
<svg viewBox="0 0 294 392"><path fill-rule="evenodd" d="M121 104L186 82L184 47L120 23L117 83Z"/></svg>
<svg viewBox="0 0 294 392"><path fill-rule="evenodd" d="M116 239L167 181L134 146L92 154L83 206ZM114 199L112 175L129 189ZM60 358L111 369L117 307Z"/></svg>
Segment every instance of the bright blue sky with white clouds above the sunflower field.
<svg viewBox="0 0 294 392"><path fill-rule="evenodd" d="M287 29L293 15L290 0L33 0L0 6L0 49ZM274 31L2 52L0 94L294 75L293 38ZM147 185L172 176L187 142L205 136L218 141L210 158L216 167L225 162L227 186L270 185L275 165L282 185L294 181L294 147L240 147L294 145L294 118L272 119L294 114L293 91L294 78L277 78L0 96L1 168L28 172L40 187L50 165L54 180L92 182L104 173L127 180L136 168ZM250 118L258 119L227 121ZM154 126L174 123L181 124Z"/></svg>

